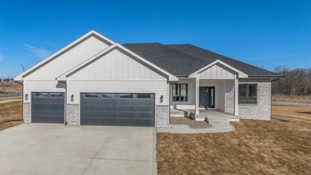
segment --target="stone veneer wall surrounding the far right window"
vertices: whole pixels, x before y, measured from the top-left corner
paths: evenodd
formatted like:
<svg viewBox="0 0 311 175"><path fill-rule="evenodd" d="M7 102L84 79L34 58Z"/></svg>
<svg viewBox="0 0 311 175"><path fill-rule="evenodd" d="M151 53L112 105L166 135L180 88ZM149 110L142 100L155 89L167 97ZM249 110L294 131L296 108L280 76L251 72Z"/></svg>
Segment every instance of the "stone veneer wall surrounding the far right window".
<svg viewBox="0 0 311 175"><path fill-rule="evenodd" d="M239 83L257 84L257 104L239 104L242 119L270 120L271 118L271 81L270 79L239 79Z"/></svg>

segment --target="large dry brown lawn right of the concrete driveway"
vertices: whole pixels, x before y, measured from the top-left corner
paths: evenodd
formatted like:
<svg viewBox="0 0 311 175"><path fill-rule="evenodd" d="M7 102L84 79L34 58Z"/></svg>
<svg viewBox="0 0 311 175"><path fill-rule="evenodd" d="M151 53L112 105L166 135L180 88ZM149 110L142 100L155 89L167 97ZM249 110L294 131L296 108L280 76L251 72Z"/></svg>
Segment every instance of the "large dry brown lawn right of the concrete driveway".
<svg viewBox="0 0 311 175"><path fill-rule="evenodd" d="M290 112L304 117L282 116ZM158 133L158 174L311 175L311 107L273 106L273 113L271 121L231 123L229 133Z"/></svg>

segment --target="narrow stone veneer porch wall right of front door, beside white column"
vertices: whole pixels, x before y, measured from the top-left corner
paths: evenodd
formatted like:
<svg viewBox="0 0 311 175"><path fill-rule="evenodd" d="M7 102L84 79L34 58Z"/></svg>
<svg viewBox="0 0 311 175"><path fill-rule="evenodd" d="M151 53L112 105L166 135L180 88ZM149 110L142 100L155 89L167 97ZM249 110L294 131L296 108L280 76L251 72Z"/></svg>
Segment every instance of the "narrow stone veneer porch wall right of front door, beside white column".
<svg viewBox="0 0 311 175"><path fill-rule="evenodd" d="M225 80L225 113L234 114L234 80Z"/></svg>

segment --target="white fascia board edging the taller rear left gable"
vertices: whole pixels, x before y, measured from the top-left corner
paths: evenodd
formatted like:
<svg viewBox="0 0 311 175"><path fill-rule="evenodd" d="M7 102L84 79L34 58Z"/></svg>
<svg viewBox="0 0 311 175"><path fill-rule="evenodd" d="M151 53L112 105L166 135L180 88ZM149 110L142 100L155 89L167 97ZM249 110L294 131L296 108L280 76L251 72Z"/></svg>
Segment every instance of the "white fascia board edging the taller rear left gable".
<svg viewBox="0 0 311 175"><path fill-rule="evenodd" d="M53 53L52 55L50 55L49 57L45 58L44 60L40 61L39 63L37 63L35 66L31 67L30 69L20 73L19 75L17 75L16 77L14 77L14 80L16 81L22 81L24 78L24 75L27 74L30 71L35 70L36 68L44 65L46 62L48 62L49 60L51 60L52 58L54 58L55 56L67 51L70 47L74 46L75 44L79 43L80 41L82 41L83 39L85 39L86 37L90 36L90 35L97 35L101 38L103 38L105 41L114 44L115 42L108 39L107 37L105 37L104 35L99 34L98 32L91 30L88 33L86 33L85 35L79 37L78 39L76 39L75 41L71 42L69 45L67 45L66 47L64 47L63 49L57 51L56 53Z"/></svg>

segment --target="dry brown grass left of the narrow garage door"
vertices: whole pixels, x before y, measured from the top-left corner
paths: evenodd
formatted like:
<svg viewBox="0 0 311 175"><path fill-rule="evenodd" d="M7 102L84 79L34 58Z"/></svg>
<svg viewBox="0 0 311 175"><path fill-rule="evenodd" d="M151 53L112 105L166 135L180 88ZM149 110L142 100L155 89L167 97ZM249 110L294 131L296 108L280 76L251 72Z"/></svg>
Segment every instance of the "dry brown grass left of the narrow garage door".
<svg viewBox="0 0 311 175"><path fill-rule="evenodd" d="M0 103L0 130L23 123L22 121L6 122L22 119L21 100Z"/></svg>

